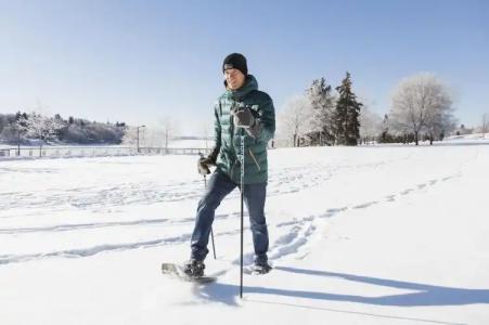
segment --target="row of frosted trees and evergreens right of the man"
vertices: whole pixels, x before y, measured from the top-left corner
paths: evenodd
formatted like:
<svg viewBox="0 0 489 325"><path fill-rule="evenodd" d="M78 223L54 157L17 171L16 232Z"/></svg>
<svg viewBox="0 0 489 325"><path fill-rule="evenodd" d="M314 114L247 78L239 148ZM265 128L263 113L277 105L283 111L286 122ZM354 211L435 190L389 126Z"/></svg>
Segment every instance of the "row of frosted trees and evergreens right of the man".
<svg viewBox="0 0 489 325"><path fill-rule="evenodd" d="M283 145L357 145L442 140L456 128L449 87L432 74L399 82L390 110L373 113L352 90L351 75L333 88L316 79L305 93L289 100L279 115L278 141Z"/></svg>

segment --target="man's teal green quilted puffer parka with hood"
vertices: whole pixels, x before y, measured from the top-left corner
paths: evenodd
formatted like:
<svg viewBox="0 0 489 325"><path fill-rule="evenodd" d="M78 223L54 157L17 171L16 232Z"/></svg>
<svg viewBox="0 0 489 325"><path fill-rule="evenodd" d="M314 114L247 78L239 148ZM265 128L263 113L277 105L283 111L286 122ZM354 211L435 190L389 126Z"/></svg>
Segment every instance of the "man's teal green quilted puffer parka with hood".
<svg viewBox="0 0 489 325"><path fill-rule="evenodd" d="M232 112L248 107L259 120L256 138L244 129L235 128ZM241 183L241 140L244 136L244 184L266 183L268 180L267 145L275 132L275 109L272 99L258 90L254 76L247 75L245 84L237 90L227 90L215 105L215 142L210 157L218 171L226 173L236 184Z"/></svg>

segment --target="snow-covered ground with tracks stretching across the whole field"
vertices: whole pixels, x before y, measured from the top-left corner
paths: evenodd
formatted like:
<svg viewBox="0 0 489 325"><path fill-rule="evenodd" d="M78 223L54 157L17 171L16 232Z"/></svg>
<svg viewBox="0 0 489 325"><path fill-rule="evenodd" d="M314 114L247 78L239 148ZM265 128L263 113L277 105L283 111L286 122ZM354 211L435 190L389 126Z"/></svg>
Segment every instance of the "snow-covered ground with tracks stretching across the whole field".
<svg viewBox="0 0 489 325"><path fill-rule="evenodd" d="M160 274L189 257L195 156L0 161L0 324L489 323L489 145L269 158L275 269L243 299L237 191L214 224L218 282Z"/></svg>

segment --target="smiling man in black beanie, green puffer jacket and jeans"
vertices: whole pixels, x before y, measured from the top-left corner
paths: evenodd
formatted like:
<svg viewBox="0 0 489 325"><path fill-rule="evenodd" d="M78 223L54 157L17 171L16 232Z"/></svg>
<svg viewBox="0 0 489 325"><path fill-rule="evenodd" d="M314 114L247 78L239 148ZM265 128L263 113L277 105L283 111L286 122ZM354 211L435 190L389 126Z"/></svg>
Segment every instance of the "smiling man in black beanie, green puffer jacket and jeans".
<svg viewBox="0 0 489 325"><path fill-rule="evenodd" d="M258 90L255 77L248 75L246 58L232 53L222 64L226 92L214 107L216 146L208 157L198 160L198 171L210 173L206 193L198 203L191 239L191 259L184 264L190 276L204 274L204 259L216 208L241 185L241 141L244 135L244 200L249 212L255 247L254 272L270 271L268 263L268 230L263 207L267 192L267 144L275 131L275 112L271 98ZM240 187L241 188L241 187Z"/></svg>

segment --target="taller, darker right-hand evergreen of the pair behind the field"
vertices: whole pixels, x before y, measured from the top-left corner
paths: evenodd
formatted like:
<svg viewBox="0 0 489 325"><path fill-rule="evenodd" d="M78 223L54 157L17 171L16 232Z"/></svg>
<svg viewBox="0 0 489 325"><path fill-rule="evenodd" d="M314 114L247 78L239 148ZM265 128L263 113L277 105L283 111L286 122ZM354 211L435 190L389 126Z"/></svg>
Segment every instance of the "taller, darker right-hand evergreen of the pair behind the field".
<svg viewBox="0 0 489 325"><path fill-rule="evenodd" d="M339 93L334 116L336 143L357 145L360 139L360 108L363 104L357 101L357 95L351 90L351 77L348 72L342 86L336 87L336 91Z"/></svg>

